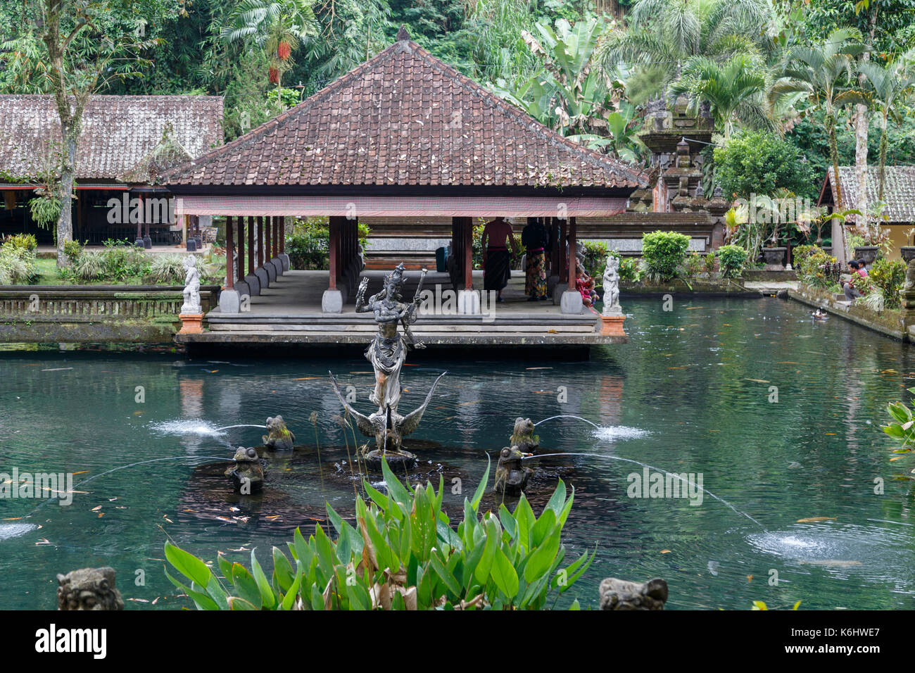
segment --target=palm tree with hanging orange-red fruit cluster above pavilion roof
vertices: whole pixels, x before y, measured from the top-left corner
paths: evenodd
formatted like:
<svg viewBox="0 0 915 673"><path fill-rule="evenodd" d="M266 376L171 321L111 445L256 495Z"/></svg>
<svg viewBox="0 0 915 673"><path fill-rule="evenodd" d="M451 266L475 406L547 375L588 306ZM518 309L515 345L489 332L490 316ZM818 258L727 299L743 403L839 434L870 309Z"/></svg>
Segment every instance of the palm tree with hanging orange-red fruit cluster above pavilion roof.
<svg viewBox="0 0 915 673"><path fill-rule="evenodd" d="M221 37L228 42L250 40L270 58L269 78L280 88L289 57L301 40L317 34L314 0L242 0L229 16Z"/></svg>

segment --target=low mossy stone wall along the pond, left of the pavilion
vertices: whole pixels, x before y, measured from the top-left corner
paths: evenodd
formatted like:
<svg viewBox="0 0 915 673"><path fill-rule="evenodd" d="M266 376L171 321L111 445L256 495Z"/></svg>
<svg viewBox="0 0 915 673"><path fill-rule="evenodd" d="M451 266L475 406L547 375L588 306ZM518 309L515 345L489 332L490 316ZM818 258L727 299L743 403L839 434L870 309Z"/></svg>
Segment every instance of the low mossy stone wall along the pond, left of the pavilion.
<svg viewBox="0 0 915 673"><path fill-rule="evenodd" d="M170 343L184 302L178 286L0 286L0 342ZM219 286L202 286L204 312Z"/></svg>

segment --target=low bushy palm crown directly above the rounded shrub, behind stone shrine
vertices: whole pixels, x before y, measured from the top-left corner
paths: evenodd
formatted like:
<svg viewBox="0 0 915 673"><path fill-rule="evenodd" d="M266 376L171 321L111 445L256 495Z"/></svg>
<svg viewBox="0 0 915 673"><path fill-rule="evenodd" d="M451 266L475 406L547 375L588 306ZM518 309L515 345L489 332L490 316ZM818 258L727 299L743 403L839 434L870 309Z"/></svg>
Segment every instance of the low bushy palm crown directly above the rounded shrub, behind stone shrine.
<svg viewBox="0 0 915 673"><path fill-rule="evenodd" d="M690 60L669 91L673 99L688 94L694 114L698 114L699 103L709 103L716 127L722 128L728 138L735 123L771 127L762 98L765 87L766 78L753 60L737 54L724 64L707 57Z"/></svg>

